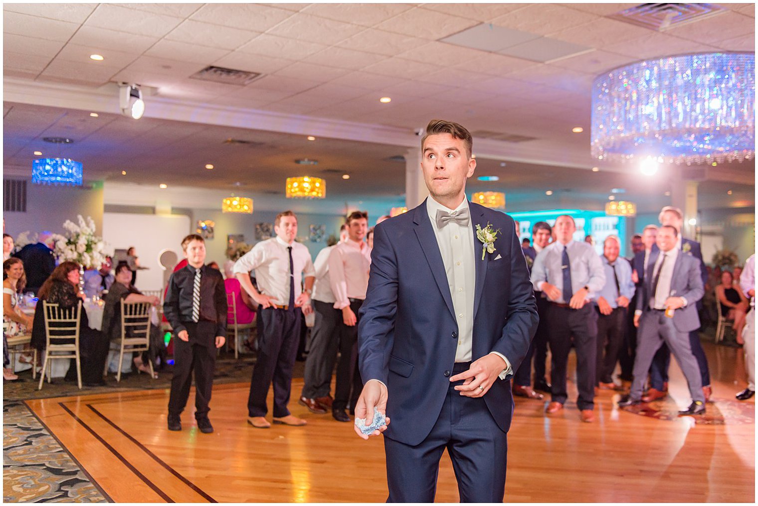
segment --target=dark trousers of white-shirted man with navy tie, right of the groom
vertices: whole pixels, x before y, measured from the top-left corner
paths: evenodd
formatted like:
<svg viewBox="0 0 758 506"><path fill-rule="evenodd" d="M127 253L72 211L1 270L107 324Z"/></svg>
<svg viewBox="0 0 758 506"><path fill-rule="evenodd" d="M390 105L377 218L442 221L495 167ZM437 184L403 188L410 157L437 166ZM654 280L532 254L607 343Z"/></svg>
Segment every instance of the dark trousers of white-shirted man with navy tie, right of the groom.
<svg viewBox="0 0 758 506"><path fill-rule="evenodd" d="M550 353L553 368L550 382L553 383L552 400L564 404L566 392L566 368L572 336L576 348L576 379L579 397L576 404L580 410L593 409L595 398L595 367L597 357L597 311L592 302L581 309L562 308L550 304Z"/></svg>

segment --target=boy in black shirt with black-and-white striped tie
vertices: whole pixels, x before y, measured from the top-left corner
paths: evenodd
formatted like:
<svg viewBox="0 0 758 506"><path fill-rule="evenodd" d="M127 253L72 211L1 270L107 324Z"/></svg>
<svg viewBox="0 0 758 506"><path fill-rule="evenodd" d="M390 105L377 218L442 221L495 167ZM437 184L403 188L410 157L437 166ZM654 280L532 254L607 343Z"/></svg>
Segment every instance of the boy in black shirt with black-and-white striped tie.
<svg viewBox="0 0 758 506"><path fill-rule="evenodd" d="M168 429L181 430L179 415L189 398L195 370L195 418L202 433L212 433L208 420L216 349L226 341L227 294L224 277L205 267L205 239L189 234L182 240L188 264L168 280L163 303L166 319L174 330L174 377L168 399Z"/></svg>

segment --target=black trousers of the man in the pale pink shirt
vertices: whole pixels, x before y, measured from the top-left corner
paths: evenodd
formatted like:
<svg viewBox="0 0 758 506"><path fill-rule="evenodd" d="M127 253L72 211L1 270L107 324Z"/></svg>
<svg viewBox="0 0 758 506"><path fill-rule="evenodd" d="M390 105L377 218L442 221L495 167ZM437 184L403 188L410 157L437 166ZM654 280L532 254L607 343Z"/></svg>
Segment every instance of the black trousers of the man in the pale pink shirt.
<svg viewBox="0 0 758 506"><path fill-rule="evenodd" d="M347 326L344 322L341 323L340 361L337 363L337 384L334 386L333 410L346 409L348 402L350 408L355 410L356 402L363 388L361 373L358 370L358 322L360 321L358 311L362 305L362 300L350 299L350 309L356 314L357 318L356 324ZM340 311L340 316L341 313L342 311Z"/></svg>

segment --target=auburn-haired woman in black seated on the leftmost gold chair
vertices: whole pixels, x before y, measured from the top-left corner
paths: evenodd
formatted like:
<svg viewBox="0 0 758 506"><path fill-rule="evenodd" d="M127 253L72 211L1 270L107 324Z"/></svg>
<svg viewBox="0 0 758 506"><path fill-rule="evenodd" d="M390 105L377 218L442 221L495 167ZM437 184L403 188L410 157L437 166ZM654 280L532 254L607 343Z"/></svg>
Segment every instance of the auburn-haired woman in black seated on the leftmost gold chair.
<svg viewBox="0 0 758 506"><path fill-rule="evenodd" d="M58 304L61 308L75 308L79 299L84 298L84 293L79 291L79 264L76 262L61 263L55 267L45 283L42 283L39 288L39 302L34 312L32 329L32 345L40 351L40 356L47 345L45 311L42 302ZM105 385L102 374L105 370L105 360L108 358L108 339L105 339L99 330L89 328L86 311L82 311L79 320L79 353L82 383L86 386ZM66 379L77 380L77 366L73 358L68 367Z"/></svg>

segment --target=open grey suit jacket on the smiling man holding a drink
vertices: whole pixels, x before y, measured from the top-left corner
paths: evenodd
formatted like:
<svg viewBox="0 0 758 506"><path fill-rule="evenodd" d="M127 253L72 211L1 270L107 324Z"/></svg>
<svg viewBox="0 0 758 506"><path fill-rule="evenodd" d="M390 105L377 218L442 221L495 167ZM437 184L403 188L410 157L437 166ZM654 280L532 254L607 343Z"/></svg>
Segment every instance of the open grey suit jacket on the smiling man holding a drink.
<svg viewBox="0 0 758 506"><path fill-rule="evenodd" d="M645 306L653 297L653 270L660 255L660 250L650 251L647 261L647 274L643 282L643 296L637 298L637 309L644 311ZM703 280L700 278L700 264L703 261L690 255L679 253L674 264L671 277L671 296L684 297L687 305L674 311L674 326L681 333L688 333L700 328L700 317L697 316L697 301L703 298Z"/></svg>

